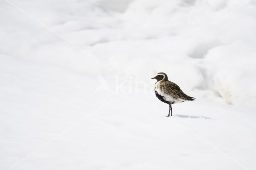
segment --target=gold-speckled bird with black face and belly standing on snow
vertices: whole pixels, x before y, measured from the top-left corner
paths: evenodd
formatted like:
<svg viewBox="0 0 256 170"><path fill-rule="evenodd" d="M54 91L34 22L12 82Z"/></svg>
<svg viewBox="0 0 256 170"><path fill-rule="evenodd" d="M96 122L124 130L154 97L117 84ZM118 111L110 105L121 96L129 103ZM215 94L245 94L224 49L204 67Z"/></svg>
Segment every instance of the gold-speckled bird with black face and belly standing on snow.
<svg viewBox="0 0 256 170"><path fill-rule="evenodd" d="M169 113L167 117L170 116L170 112L172 116L172 104L185 101L194 101L196 99L182 92L177 84L168 80L168 77L164 72L159 72L155 77L151 79L157 80L155 84L156 97L169 105Z"/></svg>

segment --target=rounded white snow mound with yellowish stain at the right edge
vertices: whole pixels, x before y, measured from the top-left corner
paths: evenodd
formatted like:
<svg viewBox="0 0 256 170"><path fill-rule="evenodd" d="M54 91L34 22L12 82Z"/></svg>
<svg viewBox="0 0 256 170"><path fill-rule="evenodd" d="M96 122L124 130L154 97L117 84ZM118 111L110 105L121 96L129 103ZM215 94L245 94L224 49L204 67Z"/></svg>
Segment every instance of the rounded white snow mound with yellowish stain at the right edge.
<svg viewBox="0 0 256 170"><path fill-rule="evenodd" d="M236 50L234 50L236 49ZM256 50L243 43L216 47L206 55L220 95L228 104L255 107Z"/></svg>

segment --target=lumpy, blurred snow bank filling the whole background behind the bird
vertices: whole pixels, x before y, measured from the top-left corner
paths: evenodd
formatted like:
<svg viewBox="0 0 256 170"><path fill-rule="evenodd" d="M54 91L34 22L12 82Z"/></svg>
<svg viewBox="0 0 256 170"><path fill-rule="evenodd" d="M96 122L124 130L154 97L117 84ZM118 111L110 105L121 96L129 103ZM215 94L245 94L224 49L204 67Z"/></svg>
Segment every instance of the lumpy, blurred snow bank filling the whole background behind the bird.
<svg viewBox="0 0 256 170"><path fill-rule="evenodd" d="M132 76L146 83L166 72L197 98L210 90L212 101L222 96L228 104L255 106L254 1L243 6L241 0L12 3L48 28L2 2L4 54L84 75Z"/></svg>

